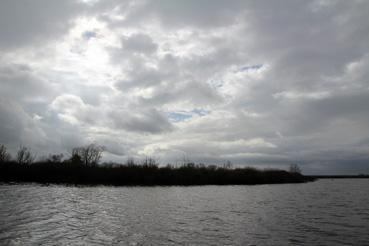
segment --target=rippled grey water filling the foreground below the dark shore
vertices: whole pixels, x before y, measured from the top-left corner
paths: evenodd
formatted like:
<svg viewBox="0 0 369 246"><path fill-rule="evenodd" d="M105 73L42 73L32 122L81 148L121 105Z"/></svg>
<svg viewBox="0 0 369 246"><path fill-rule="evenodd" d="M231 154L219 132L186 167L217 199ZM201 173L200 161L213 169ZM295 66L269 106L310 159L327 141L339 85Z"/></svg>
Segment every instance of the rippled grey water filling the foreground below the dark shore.
<svg viewBox="0 0 369 246"><path fill-rule="evenodd" d="M0 185L1 245L369 245L369 179L197 187Z"/></svg>

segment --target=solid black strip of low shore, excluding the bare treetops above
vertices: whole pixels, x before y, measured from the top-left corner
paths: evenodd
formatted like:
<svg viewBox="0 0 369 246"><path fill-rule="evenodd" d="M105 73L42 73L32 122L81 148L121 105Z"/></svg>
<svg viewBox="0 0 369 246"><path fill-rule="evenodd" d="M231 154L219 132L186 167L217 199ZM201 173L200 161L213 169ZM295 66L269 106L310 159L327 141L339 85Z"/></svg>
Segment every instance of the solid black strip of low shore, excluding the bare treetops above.
<svg viewBox="0 0 369 246"><path fill-rule="evenodd" d="M0 163L0 182L115 186L255 185L314 181L284 170L227 168L186 163L178 167L157 164L101 164L85 166L73 162Z"/></svg>

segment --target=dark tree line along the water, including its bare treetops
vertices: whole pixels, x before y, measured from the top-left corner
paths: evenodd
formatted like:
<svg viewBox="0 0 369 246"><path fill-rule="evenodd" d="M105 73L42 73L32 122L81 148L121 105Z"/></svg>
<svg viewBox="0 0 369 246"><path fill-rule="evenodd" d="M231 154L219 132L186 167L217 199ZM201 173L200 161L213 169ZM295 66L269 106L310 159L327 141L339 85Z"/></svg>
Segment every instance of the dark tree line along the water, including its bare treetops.
<svg viewBox="0 0 369 246"><path fill-rule="evenodd" d="M37 182L76 185L245 185L301 183L312 181L297 165L290 171L251 167L196 164L189 160L179 166L160 166L154 158L124 164L101 163L104 148L99 145L72 149L70 156L53 154L36 160L29 148L20 146L14 158L0 145L0 182Z"/></svg>

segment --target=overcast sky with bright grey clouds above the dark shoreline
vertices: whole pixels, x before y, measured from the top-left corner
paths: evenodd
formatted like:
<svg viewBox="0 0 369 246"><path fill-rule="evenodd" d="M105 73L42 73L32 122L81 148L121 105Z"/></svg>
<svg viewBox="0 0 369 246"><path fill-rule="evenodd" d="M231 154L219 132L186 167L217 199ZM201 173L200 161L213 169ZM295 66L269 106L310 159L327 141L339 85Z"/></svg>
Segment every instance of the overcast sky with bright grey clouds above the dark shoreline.
<svg viewBox="0 0 369 246"><path fill-rule="evenodd" d="M369 2L2 0L0 143L369 173Z"/></svg>

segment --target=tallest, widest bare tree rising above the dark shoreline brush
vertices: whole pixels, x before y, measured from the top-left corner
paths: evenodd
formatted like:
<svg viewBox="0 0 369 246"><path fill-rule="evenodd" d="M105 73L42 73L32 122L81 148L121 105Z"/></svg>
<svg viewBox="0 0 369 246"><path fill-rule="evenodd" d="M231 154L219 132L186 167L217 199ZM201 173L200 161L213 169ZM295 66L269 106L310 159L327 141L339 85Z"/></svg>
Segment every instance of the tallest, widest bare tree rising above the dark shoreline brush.
<svg viewBox="0 0 369 246"><path fill-rule="evenodd" d="M104 147L90 144L72 150L72 161L82 162L85 166L97 165L104 152Z"/></svg>

